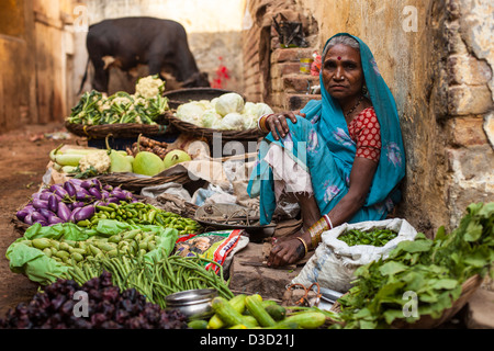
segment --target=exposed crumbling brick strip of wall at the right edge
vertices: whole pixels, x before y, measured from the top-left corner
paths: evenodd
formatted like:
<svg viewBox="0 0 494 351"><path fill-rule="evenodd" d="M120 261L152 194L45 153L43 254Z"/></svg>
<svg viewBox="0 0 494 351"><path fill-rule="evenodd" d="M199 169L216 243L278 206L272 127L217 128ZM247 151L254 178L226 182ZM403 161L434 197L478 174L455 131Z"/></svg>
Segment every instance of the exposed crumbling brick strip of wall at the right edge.
<svg viewBox="0 0 494 351"><path fill-rule="evenodd" d="M491 50L483 47L483 30L489 26L480 21L485 15L484 7L450 0L447 10L446 191L450 225L454 226L470 203L494 201L494 56L492 43Z"/></svg>

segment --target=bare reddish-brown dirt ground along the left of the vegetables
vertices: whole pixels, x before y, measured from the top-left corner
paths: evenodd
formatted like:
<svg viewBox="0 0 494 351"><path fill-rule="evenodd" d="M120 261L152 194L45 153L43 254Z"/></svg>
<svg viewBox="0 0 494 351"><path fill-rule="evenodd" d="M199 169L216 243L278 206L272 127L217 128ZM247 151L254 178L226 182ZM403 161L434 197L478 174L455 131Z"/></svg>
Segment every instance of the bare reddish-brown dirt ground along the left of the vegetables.
<svg viewBox="0 0 494 351"><path fill-rule="evenodd" d="M61 123L29 125L0 135L0 318L20 302L29 302L37 291L37 284L9 269L7 248L20 237L11 219L40 189L49 150L61 143L85 145L74 135L66 140L55 139L57 132L65 132Z"/></svg>

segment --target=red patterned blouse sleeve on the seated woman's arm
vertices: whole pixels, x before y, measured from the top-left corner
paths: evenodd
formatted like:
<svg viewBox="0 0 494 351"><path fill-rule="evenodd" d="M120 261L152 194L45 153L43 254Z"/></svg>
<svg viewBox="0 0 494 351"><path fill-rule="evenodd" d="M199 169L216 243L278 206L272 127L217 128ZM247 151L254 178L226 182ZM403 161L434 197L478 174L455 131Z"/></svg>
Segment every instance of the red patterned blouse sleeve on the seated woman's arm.
<svg viewBox="0 0 494 351"><path fill-rule="evenodd" d="M355 157L363 157L375 162L381 155L381 126L374 107L362 110L348 125L350 138L357 144Z"/></svg>

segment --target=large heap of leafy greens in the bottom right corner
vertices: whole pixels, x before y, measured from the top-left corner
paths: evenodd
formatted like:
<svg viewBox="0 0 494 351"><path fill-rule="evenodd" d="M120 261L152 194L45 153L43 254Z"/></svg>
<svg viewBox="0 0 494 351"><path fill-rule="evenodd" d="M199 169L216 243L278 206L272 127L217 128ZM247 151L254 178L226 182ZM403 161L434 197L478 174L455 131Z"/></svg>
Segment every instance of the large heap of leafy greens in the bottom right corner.
<svg viewBox="0 0 494 351"><path fill-rule="evenodd" d="M419 233L414 241L402 241L385 260L356 271L349 293L339 298L345 328L389 328L414 322L420 316L439 318L461 294L469 278L493 274L494 203L471 204L450 235L438 229L434 239ZM417 296L417 314L405 314ZM405 316L407 315L407 316Z"/></svg>

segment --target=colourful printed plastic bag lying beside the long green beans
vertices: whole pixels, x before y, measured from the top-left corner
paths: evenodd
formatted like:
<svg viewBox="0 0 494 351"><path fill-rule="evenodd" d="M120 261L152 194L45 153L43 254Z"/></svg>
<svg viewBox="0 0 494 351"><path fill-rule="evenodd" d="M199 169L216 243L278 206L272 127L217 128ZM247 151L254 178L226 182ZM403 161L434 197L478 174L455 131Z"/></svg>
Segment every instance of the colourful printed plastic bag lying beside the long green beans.
<svg viewBox="0 0 494 351"><path fill-rule="evenodd" d="M178 240L176 253L182 257L199 256L213 260L227 270L233 256L249 244L249 238L243 229L210 231ZM213 269L216 273L220 267L206 263L205 269Z"/></svg>

